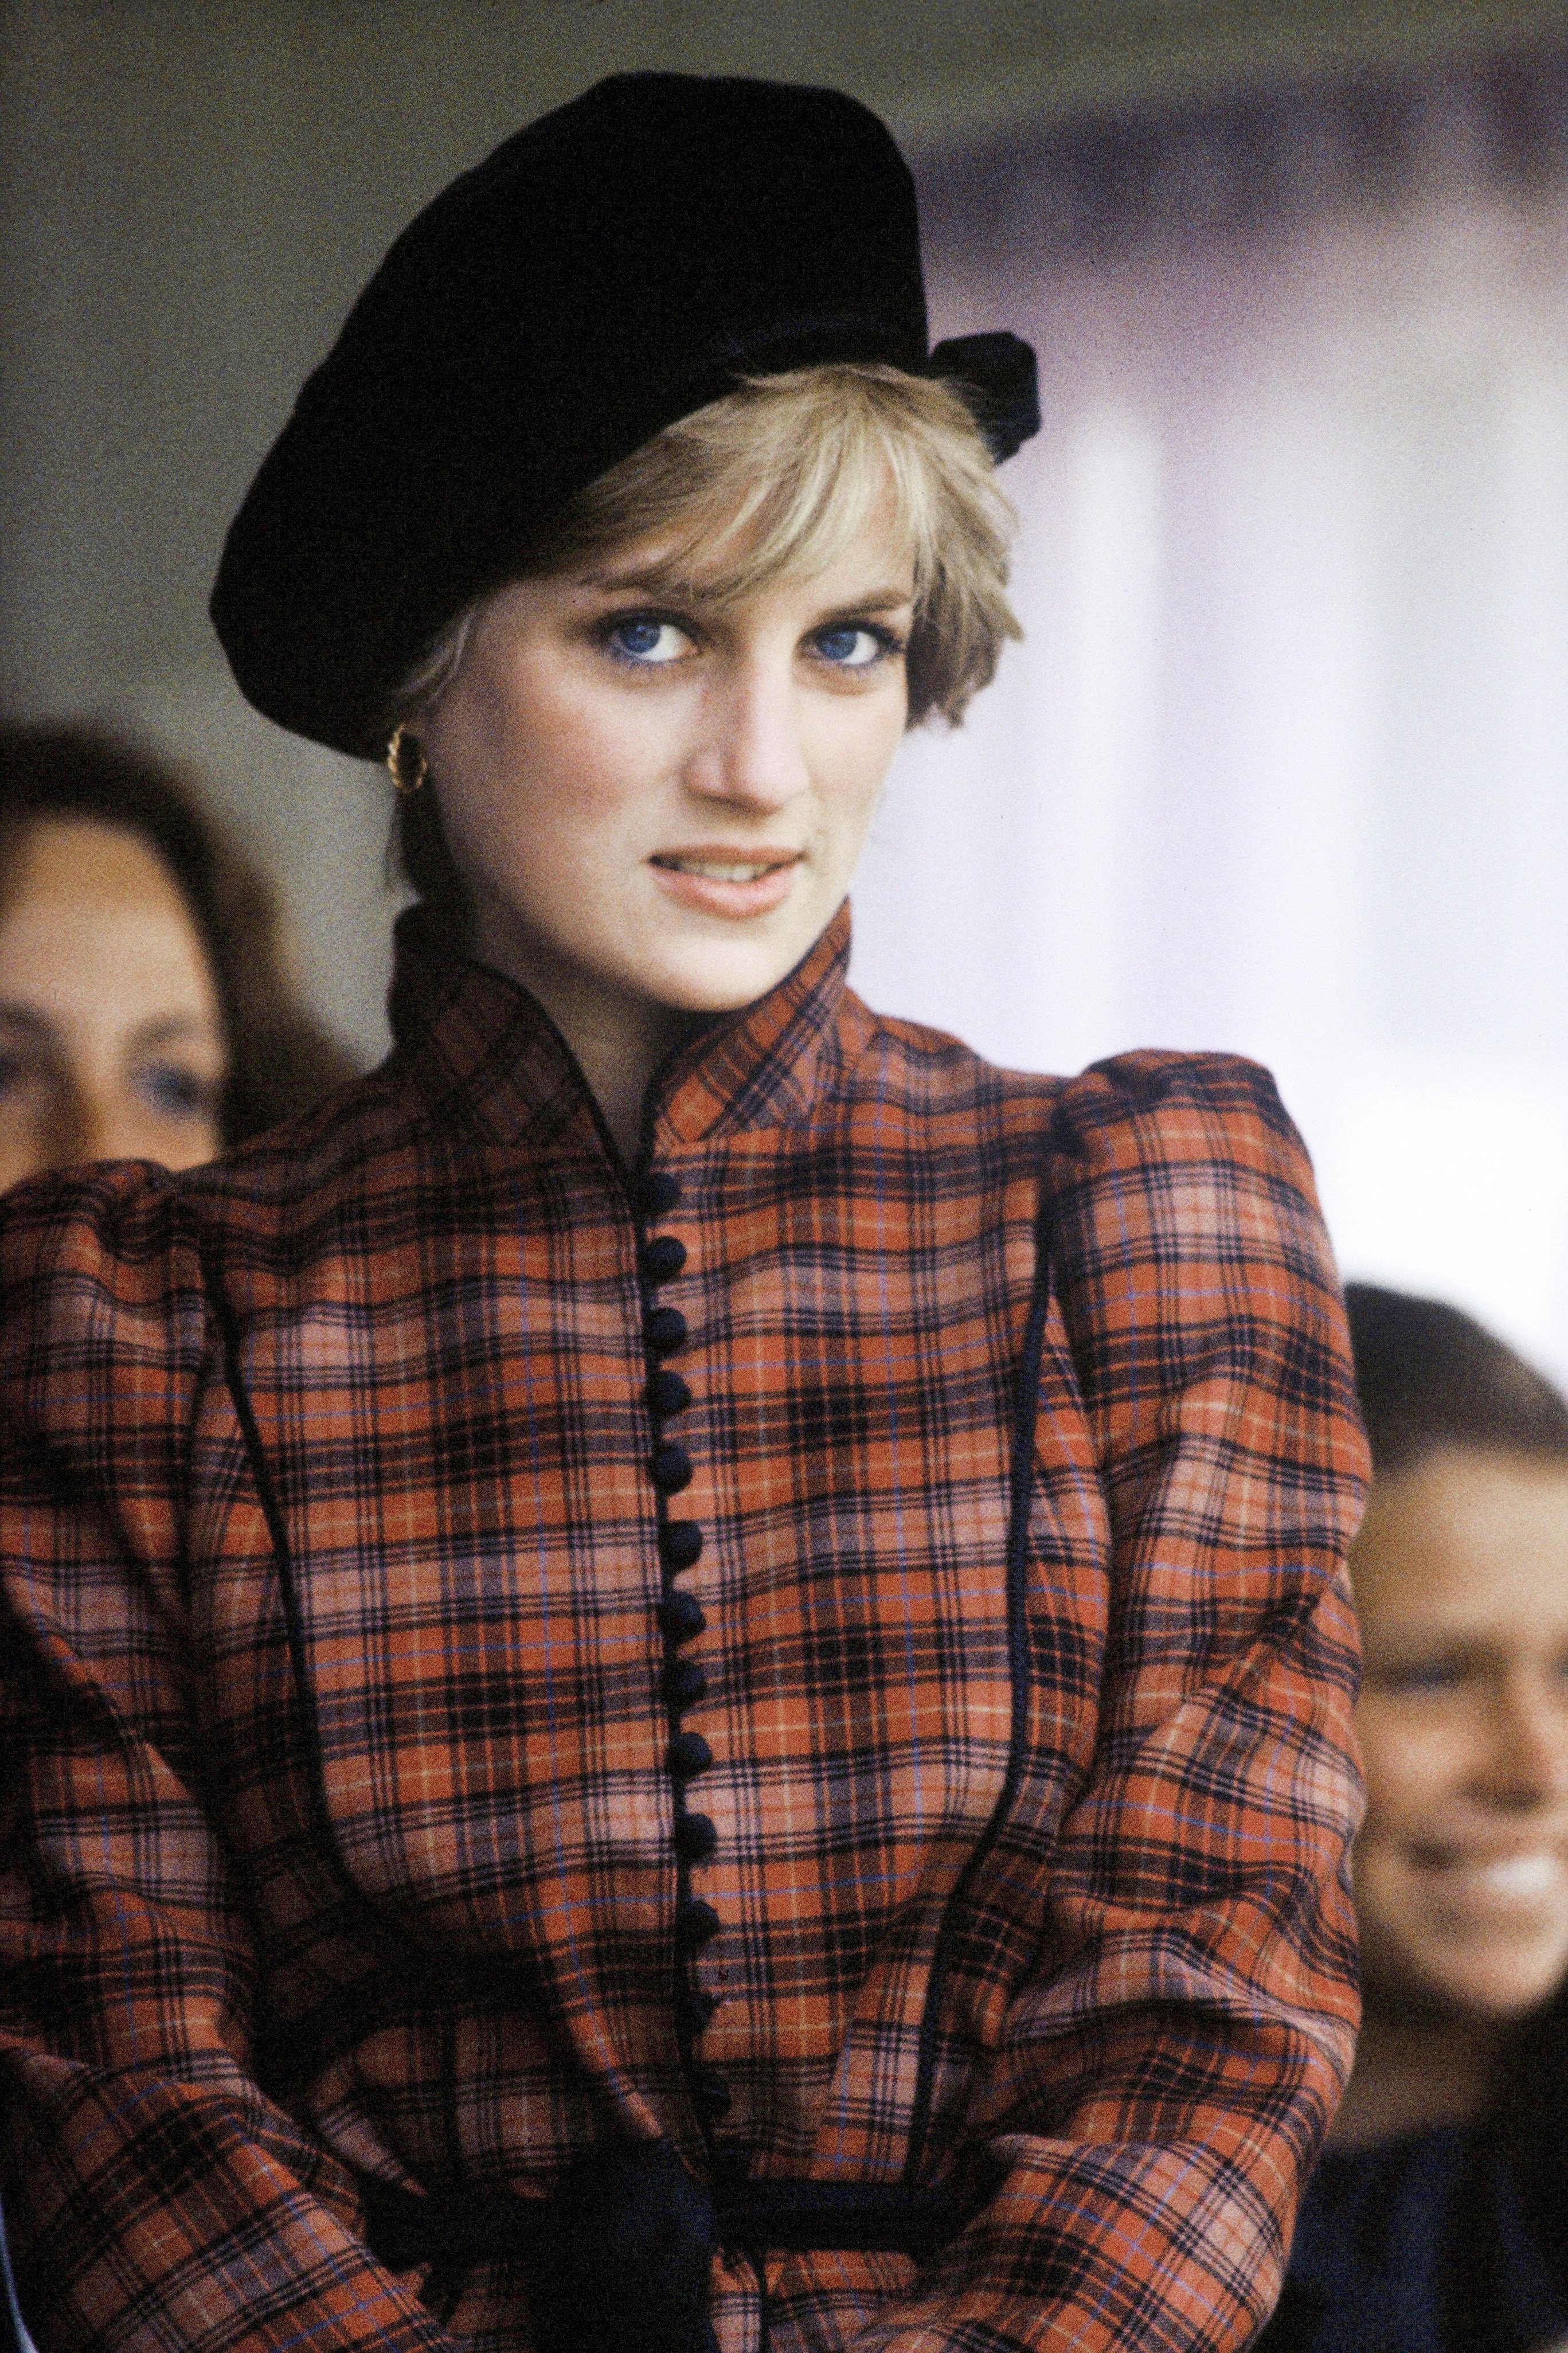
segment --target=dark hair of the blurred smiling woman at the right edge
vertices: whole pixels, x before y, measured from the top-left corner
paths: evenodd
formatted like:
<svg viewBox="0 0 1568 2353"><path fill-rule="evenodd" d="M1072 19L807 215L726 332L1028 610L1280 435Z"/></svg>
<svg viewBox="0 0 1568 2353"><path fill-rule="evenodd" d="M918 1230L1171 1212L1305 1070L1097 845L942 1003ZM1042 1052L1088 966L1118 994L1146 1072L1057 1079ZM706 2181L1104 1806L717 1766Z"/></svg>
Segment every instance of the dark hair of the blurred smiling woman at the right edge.
<svg viewBox="0 0 1568 2353"><path fill-rule="evenodd" d="M1349 1282L1356 1391L1373 1473L1391 1478L1448 1449L1568 1464L1568 1402L1507 1341L1441 1299ZM1568 1986L1519 2031L1511 2066L1474 2141L1464 2209L1474 2249L1495 2228L1495 2167L1511 2179L1528 2228L1568 2275ZM1497 2315L1476 2282L1483 2264L1455 2264L1450 2299L1460 2344L1490 2346Z"/></svg>

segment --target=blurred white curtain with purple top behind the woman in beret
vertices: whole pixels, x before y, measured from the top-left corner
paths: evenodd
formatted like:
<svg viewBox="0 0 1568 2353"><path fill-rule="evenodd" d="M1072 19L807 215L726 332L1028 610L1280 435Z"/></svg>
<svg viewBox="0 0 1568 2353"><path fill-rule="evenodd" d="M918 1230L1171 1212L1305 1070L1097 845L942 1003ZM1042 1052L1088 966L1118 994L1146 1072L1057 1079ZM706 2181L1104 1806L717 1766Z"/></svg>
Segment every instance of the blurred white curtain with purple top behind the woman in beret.
<svg viewBox="0 0 1568 2353"><path fill-rule="evenodd" d="M1568 1377L1568 56L923 174L935 332L1041 353L1012 647L913 736L871 1002L1278 1073L1347 1273Z"/></svg>

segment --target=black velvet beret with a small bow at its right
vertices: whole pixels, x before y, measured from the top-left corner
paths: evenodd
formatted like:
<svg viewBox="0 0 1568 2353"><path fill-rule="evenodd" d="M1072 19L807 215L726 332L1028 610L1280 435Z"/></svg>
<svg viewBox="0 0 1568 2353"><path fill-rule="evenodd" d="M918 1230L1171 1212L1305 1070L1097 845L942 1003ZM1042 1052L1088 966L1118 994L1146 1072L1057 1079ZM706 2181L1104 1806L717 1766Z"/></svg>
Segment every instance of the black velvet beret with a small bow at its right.
<svg viewBox="0 0 1568 2353"><path fill-rule="evenodd" d="M398 238L233 520L212 621L242 694L379 758L398 680L565 501L739 374L963 379L1038 428L1008 334L928 355L909 169L855 99L629 73L506 139Z"/></svg>

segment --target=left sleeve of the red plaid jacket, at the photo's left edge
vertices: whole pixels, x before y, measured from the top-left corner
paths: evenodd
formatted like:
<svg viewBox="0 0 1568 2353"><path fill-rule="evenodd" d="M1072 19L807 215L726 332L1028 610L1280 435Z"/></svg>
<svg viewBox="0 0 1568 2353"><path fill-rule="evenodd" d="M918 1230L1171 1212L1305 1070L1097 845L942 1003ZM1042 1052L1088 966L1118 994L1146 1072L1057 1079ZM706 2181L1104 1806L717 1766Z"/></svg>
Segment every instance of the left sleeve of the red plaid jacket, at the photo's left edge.
<svg viewBox="0 0 1568 2353"><path fill-rule="evenodd" d="M247 2071L252 1944L188 1706L212 1348L179 1191L28 1186L0 1285L2 2162L38 2348L436 2353L346 2174Z"/></svg>

